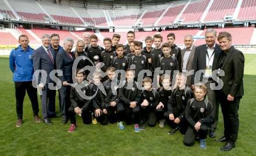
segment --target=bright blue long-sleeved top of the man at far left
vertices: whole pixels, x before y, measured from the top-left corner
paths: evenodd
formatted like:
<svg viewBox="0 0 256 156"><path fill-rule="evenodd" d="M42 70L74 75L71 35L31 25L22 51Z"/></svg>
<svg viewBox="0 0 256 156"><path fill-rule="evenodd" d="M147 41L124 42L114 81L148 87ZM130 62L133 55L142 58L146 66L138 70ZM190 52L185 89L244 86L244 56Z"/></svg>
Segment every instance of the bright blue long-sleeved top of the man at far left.
<svg viewBox="0 0 256 156"><path fill-rule="evenodd" d="M34 49L28 46L27 50L23 50L19 45L12 49L9 57L9 67L13 72L13 81L26 82L33 79L33 53Z"/></svg>

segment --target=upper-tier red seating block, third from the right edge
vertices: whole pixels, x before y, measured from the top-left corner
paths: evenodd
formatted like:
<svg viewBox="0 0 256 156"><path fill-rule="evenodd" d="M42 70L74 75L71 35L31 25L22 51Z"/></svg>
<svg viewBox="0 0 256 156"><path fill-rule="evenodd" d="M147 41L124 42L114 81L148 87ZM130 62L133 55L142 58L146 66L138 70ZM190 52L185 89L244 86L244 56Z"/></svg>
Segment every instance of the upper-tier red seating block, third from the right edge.
<svg viewBox="0 0 256 156"><path fill-rule="evenodd" d="M182 23L198 23L209 2L210 0L194 3L192 1L180 17L180 19L183 19Z"/></svg>

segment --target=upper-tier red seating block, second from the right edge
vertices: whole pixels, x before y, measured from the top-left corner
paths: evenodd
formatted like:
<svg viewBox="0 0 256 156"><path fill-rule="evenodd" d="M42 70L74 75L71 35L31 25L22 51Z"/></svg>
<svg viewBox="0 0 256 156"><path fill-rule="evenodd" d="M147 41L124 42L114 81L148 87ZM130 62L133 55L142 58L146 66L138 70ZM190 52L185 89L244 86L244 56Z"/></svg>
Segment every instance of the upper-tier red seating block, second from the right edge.
<svg viewBox="0 0 256 156"><path fill-rule="evenodd" d="M237 0L215 0L204 21L223 21L226 15L231 15L236 9Z"/></svg>

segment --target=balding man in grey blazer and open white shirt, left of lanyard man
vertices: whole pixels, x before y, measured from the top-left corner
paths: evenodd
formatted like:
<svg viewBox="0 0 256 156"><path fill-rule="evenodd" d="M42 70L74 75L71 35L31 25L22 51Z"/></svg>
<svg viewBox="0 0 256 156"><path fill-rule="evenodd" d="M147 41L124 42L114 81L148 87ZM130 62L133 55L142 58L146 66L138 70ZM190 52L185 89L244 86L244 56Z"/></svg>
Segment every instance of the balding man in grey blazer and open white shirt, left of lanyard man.
<svg viewBox="0 0 256 156"><path fill-rule="evenodd" d="M182 49L182 56L180 62L180 71L187 73L192 70L195 46L193 45L194 39L192 35L186 35L184 38L184 45L186 48ZM187 77L187 86L191 88L192 75Z"/></svg>

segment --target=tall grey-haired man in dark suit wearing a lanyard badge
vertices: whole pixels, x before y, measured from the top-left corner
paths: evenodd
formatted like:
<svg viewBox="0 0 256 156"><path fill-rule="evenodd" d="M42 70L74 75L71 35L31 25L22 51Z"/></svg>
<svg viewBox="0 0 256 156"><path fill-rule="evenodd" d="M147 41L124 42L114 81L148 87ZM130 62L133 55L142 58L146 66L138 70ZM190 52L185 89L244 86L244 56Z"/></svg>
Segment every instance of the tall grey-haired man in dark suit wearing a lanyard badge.
<svg viewBox="0 0 256 156"><path fill-rule="evenodd" d="M218 116L219 116L219 102L216 99L216 91L210 88L210 84L216 83L212 79L212 71L218 70L219 56L221 53L221 48L218 44L215 43L217 37L217 32L209 28L205 31L205 42L206 44L197 46L195 48L194 55L194 63L193 70L194 74L198 70L204 70L204 73L201 73L200 81L205 79L207 83L207 96L208 100L211 101L214 111L214 123L211 124L209 130L209 137L215 137L215 130L218 124ZM194 88L194 84L198 82L194 82L195 75L192 78L192 88Z"/></svg>

